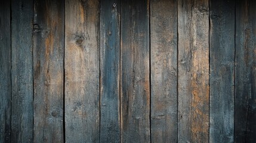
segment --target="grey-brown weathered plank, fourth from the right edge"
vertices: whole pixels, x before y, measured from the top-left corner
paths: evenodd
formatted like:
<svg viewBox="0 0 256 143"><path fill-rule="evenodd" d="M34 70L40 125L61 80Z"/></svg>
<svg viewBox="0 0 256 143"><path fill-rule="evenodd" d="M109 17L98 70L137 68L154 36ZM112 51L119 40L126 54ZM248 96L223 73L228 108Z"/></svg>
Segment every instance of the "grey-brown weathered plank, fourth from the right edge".
<svg viewBox="0 0 256 143"><path fill-rule="evenodd" d="M151 141L177 142L177 1L150 1Z"/></svg>

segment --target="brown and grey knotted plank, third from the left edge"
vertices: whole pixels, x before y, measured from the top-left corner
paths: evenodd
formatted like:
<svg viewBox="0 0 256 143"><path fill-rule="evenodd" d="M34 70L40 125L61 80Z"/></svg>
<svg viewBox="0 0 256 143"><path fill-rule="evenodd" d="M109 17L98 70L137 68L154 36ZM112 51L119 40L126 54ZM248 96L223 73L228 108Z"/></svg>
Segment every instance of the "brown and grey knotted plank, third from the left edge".
<svg viewBox="0 0 256 143"><path fill-rule="evenodd" d="M34 142L63 142L64 1L35 0Z"/></svg>

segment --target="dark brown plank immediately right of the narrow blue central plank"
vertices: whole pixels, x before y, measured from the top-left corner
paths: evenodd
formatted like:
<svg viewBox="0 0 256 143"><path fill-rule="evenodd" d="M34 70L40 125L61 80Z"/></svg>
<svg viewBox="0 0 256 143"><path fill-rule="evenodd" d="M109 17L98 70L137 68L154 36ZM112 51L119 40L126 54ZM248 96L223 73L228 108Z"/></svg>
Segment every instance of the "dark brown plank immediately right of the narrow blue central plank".
<svg viewBox="0 0 256 143"><path fill-rule="evenodd" d="M149 1L121 1L121 142L150 142Z"/></svg>

